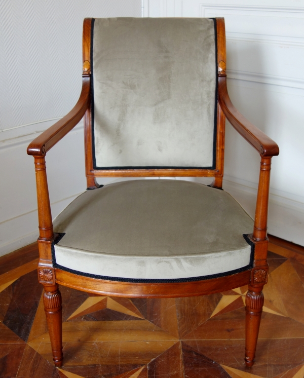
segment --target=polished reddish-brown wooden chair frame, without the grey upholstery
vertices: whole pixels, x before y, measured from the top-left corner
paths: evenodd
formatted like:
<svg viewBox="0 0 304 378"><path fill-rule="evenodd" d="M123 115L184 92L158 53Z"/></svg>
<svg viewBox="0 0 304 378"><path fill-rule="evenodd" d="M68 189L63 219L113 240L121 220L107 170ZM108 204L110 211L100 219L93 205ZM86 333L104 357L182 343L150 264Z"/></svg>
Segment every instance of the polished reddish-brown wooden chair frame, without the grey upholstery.
<svg viewBox="0 0 304 378"><path fill-rule="evenodd" d="M100 295L122 297L184 297L212 294L240 286L249 285L246 294L246 341L245 363L252 366L258 337L259 323L263 307L262 288L268 279L267 263L267 217L271 159L279 154L278 145L262 131L247 121L233 106L226 88L225 72L225 28L224 19L216 18L217 64L218 64L218 104L216 167L211 169L128 169L94 170L91 139L91 99L90 99L90 47L91 19L84 20L83 31L83 86L80 98L73 109L60 121L35 138L28 146L27 153L34 157L39 214L39 266L38 277L44 286L44 305L51 338L53 360L56 366L62 365L62 322L61 294L58 284ZM57 235L53 232L50 199L48 192L45 156L84 117L86 176L88 188L99 185L96 177L116 176L212 176L211 186L221 188L224 161L225 118L260 154L260 174L254 229L250 236L254 243L253 268L241 273L195 282L181 283L131 283L114 282L78 276L52 264L52 242Z"/></svg>

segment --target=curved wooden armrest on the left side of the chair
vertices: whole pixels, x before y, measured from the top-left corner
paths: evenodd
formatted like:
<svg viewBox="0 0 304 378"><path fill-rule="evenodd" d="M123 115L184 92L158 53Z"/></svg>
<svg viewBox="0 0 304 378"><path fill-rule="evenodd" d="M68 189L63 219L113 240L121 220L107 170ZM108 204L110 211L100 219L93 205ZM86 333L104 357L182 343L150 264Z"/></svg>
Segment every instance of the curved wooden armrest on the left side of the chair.
<svg viewBox="0 0 304 378"><path fill-rule="evenodd" d="M44 156L61 138L63 138L83 118L90 104L90 78L83 77L82 91L77 104L72 110L37 136L27 147L28 155Z"/></svg>

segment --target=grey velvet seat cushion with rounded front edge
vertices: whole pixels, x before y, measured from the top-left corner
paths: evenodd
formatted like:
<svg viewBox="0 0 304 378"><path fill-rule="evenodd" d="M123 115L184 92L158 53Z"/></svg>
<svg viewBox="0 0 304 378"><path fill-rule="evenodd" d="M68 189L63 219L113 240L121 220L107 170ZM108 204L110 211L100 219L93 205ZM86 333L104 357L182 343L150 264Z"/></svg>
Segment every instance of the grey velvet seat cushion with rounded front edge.
<svg viewBox="0 0 304 378"><path fill-rule="evenodd" d="M54 220L55 266L119 281L194 280L249 269L253 220L228 193L183 180L86 191Z"/></svg>

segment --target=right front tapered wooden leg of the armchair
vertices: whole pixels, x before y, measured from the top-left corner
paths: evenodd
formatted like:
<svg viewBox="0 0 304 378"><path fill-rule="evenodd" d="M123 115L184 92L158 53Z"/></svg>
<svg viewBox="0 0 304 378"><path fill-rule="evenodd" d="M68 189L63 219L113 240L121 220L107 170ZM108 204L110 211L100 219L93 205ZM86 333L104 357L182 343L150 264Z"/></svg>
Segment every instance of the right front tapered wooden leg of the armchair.
<svg viewBox="0 0 304 378"><path fill-rule="evenodd" d="M264 304L262 288L263 285L258 287L252 287L249 285L249 290L246 294L246 366L252 366L254 363L258 330Z"/></svg>

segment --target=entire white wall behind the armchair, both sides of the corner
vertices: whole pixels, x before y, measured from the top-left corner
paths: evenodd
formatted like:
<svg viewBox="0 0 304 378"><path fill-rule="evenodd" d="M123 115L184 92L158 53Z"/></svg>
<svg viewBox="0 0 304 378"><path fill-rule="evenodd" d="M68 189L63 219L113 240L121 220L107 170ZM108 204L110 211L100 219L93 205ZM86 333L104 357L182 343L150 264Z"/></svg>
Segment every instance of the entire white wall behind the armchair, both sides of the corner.
<svg viewBox="0 0 304 378"><path fill-rule="evenodd" d="M304 245L304 0L233 4L143 0L143 14L225 17L232 100L281 150L273 159L269 232ZM0 255L37 238L34 166L26 147L78 99L83 18L140 15L140 0L0 3ZM83 145L80 123L47 154L53 216L86 187ZM258 168L258 154L227 125L224 187L251 213Z"/></svg>

